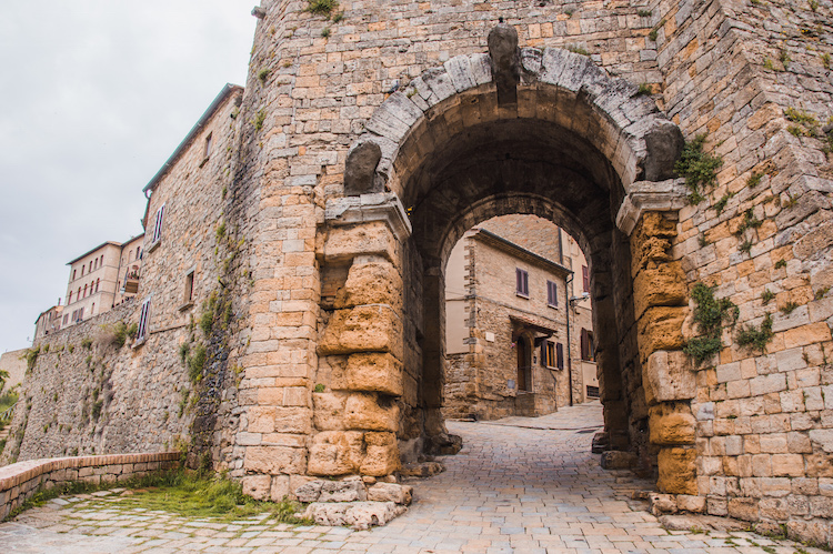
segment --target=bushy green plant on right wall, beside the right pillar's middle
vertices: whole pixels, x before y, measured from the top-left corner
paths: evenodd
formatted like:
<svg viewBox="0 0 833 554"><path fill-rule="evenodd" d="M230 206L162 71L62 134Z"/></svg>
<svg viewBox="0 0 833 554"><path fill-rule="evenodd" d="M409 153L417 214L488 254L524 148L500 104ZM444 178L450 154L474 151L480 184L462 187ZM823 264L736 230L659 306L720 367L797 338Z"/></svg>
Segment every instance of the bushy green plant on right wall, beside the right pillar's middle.
<svg viewBox="0 0 833 554"><path fill-rule="evenodd" d="M714 290L704 283L694 285L691 298L696 303L693 315L700 336L690 340L683 352L692 356L697 364L702 364L723 347L720 338L723 324L734 325L739 310L729 299L715 299Z"/></svg>

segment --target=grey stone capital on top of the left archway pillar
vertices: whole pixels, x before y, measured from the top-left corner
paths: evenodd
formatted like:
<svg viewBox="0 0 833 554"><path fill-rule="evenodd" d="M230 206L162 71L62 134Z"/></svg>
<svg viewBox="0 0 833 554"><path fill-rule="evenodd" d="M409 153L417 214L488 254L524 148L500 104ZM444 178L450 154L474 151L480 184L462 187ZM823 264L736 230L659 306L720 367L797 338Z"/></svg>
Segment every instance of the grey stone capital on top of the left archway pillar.
<svg viewBox="0 0 833 554"><path fill-rule="evenodd" d="M411 221L395 192L330 199L327 201L324 218L333 226L384 221L400 242L412 232Z"/></svg>

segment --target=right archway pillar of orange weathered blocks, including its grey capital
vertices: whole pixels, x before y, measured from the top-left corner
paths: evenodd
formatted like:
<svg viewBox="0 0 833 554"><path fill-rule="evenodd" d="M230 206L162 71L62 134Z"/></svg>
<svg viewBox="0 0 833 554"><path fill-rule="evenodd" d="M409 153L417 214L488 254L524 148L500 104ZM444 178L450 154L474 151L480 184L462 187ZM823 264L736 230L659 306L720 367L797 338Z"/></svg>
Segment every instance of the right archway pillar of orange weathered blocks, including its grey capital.
<svg viewBox="0 0 833 554"><path fill-rule="evenodd" d="M683 205L680 180L634 183L616 223L631 238L631 276L650 443L658 449L658 487L696 495L694 371L683 353L685 273L671 256Z"/></svg>

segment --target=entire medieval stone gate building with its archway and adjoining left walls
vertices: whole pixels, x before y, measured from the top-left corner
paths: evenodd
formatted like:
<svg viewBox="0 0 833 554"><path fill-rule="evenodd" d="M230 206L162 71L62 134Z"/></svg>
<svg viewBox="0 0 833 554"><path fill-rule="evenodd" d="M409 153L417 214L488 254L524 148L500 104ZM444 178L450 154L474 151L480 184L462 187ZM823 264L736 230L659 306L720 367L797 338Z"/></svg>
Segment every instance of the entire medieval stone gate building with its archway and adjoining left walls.
<svg viewBox="0 0 833 554"><path fill-rule="evenodd" d="M531 213L589 258L609 447L830 544L830 3L308 8L255 10L245 90L148 189L141 300L36 344L3 456L179 442L281 497L453 450L445 260Z"/></svg>

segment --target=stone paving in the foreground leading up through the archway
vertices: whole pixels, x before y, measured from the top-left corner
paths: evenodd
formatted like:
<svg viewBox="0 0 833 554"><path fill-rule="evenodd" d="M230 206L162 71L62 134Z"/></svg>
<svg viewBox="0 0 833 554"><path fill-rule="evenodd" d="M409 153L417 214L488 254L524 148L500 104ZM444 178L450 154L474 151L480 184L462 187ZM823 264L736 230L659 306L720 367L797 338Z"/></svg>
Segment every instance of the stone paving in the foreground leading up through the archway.
<svg viewBox="0 0 833 554"><path fill-rule="evenodd" d="M520 426L524 425L524 426ZM651 483L608 472L590 453L598 403L536 417L449 422L463 450L413 482L414 504L385 527L292 526L268 515L220 523L120 508L113 492L56 498L0 524L2 553L559 553L803 554L747 532L665 531L631 500Z"/></svg>

